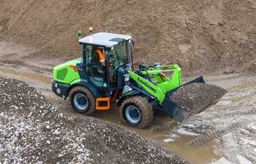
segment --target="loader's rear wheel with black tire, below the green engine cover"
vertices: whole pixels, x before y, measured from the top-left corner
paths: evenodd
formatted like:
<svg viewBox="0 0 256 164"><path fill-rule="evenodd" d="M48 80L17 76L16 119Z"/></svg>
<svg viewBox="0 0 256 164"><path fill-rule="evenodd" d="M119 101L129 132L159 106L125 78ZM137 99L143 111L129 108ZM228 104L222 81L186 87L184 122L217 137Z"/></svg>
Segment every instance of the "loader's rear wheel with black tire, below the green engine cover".
<svg viewBox="0 0 256 164"><path fill-rule="evenodd" d="M80 96L79 98L77 98L78 95ZM84 102L78 102L80 99L82 99ZM80 114L91 115L95 111L94 96L87 88L83 86L75 86L72 88L72 90L69 92L69 100L72 108ZM87 105L85 105L86 101L88 102Z"/></svg>

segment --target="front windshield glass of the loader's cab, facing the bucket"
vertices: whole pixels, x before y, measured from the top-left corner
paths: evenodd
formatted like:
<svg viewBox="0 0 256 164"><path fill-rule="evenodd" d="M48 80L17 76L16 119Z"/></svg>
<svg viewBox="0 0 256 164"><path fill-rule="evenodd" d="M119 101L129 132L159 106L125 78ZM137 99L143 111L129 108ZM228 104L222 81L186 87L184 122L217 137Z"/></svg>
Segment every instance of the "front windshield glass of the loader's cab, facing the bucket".
<svg viewBox="0 0 256 164"><path fill-rule="evenodd" d="M121 64L128 64L127 41L123 40L117 45L114 45L110 53L110 63L112 63L114 67Z"/></svg>

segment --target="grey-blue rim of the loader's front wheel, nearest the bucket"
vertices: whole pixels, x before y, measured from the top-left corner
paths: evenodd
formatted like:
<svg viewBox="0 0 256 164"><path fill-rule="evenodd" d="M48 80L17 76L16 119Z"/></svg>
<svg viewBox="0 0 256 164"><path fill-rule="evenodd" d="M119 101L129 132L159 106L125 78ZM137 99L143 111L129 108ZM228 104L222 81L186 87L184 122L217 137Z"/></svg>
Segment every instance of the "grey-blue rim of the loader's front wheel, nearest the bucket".
<svg viewBox="0 0 256 164"><path fill-rule="evenodd" d="M127 106L127 109L125 110L125 116L127 117L127 120L132 124L138 124L141 117L140 109L134 105Z"/></svg>

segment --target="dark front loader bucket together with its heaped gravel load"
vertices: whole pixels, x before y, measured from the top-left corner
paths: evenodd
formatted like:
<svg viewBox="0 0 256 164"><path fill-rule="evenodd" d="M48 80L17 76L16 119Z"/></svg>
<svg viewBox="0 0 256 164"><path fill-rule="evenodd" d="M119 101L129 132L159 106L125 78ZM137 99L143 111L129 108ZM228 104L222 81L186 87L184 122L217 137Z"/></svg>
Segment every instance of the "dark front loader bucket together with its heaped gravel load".
<svg viewBox="0 0 256 164"><path fill-rule="evenodd" d="M169 91L162 105L169 116L181 123L216 104L224 94L225 89L205 83L200 77Z"/></svg>

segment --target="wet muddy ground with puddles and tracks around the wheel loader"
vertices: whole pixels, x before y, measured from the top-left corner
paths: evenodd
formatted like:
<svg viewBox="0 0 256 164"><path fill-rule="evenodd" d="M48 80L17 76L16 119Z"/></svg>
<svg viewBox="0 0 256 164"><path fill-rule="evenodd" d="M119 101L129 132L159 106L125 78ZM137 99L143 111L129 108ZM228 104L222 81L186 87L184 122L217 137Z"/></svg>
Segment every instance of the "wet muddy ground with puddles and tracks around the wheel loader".
<svg viewBox="0 0 256 164"><path fill-rule="evenodd" d="M26 60L34 65L38 61ZM3 62L0 64L0 76L25 81L40 90L61 114L82 118L72 110L69 101L51 92L51 62L42 59L37 69L31 66L33 64L22 65L12 63L12 60ZM197 76L184 76L183 79L186 82ZM221 86L228 92L217 104L187 119L184 124L176 124L173 119L160 114L148 129L127 128L192 163L242 163L244 159L255 163L256 76L218 73L205 75L204 78L207 83ZM93 117L124 126L118 113L116 106L112 106L109 111L97 111Z"/></svg>

